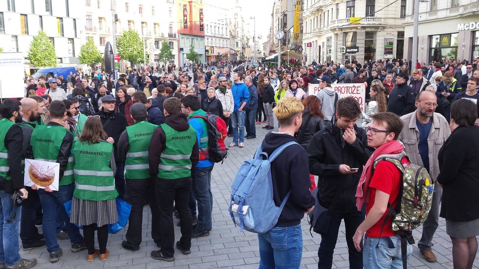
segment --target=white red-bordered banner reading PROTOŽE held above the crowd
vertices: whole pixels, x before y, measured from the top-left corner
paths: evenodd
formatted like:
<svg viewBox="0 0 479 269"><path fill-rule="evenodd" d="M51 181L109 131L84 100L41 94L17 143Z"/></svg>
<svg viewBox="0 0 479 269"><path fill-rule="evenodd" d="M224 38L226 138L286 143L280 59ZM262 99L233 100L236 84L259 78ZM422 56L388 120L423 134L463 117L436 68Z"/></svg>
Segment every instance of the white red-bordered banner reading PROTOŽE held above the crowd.
<svg viewBox="0 0 479 269"><path fill-rule="evenodd" d="M339 93L341 98L351 96L356 99L361 105L361 110L365 111L366 109L366 85L364 83L343 83L343 84L331 84L331 88ZM310 84L308 86L308 95L316 95L321 88L319 84Z"/></svg>

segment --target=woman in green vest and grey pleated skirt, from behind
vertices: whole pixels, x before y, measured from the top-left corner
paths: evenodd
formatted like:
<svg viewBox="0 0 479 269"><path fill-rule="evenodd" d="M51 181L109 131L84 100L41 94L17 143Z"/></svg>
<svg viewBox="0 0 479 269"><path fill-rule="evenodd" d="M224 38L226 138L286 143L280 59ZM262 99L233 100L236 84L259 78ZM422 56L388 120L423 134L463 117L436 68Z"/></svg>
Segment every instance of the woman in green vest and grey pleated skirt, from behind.
<svg viewBox="0 0 479 269"><path fill-rule="evenodd" d="M115 157L113 144L106 142L107 138L100 117L95 115L87 119L83 133L75 142L75 190L70 222L83 226L89 262L98 255L100 261L106 261L110 254L106 249L108 224L118 222ZM99 249L95 249L95 229Z"/></svg>

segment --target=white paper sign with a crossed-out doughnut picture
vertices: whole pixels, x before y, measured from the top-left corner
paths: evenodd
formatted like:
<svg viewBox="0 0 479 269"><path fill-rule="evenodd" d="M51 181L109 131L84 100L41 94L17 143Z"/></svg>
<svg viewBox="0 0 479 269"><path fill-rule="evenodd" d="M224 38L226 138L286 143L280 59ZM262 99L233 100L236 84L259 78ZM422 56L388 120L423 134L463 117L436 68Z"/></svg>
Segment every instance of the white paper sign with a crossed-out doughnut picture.
<svg viewBox="0 0 479 269"><path fill-rule="evenodd" d="M24 185L33 184L41 189L50 186L51 190L58 191L60 182L60 164L57 162L25 159Z"/></svg>

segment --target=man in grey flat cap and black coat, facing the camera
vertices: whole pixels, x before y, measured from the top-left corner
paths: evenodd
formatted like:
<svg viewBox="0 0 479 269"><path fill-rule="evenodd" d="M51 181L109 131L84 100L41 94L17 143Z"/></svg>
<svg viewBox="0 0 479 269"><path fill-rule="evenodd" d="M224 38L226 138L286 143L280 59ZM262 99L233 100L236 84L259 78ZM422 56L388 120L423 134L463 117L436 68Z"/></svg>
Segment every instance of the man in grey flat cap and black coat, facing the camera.
<svg viewBox="0 0 479 269"><path fill-rule="evenodd" d="M118 157L117 143L120 140L120 135L126 130L128 122L126 117L120 112L115 111L115 104L117 100L111 95L101 97L102 109L95 113L100 117L101 125L108 135L107 142L113 144L115 154L115 164L117 172L115 174L115 187L117 188L120 199L124 199L125 195L125 162L120 161Z"/></svg>

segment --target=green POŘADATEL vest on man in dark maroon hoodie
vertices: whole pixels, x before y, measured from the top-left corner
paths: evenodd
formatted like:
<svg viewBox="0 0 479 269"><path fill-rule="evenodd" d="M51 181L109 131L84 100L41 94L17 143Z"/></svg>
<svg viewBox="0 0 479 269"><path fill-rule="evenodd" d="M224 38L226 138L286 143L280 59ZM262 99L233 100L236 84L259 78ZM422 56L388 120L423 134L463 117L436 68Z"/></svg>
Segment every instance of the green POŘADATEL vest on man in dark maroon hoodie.
<svg viewBox="0 0 479 269"><path fill-rule="evenodd" d="M166 136L166 149L160 155L159 179L191 177L192 148L196 143L196 131L190 126L186 131L176 131L168 124L160 125Z"/></svg>

